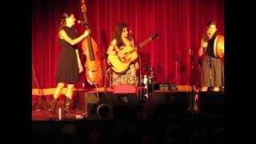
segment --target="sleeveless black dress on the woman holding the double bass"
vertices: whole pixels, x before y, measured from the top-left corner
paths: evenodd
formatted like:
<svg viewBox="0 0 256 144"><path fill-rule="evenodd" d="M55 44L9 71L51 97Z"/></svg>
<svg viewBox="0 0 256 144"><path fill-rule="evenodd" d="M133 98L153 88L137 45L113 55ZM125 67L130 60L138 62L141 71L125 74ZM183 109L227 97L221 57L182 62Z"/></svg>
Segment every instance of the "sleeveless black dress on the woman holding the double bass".
<svg viewBox="0 0 256 144"><path fill-rule="evenodd" d="M66 34L71 38L77 38L77 32L74 28L65 26ZM58 58L56 81L74 84L78 82L78 58L75 50L77 46L71 46L64 39L58 38L62 51Z"/></svg>

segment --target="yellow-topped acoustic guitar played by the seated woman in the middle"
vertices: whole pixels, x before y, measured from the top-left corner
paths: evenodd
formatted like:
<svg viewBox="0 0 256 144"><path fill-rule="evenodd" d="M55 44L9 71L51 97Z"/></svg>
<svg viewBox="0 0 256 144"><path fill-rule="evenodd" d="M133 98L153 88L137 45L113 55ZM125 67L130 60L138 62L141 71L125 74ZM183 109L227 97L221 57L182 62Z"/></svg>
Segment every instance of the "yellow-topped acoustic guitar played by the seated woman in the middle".
<svg viewBox="0 0 256 144"><path fill-rule="evenodd" d="M146 43L151 42L154 38L158 37L159 34L153 34L150 38L147 38L145 41L140 43L137 48L134 48L133 46L125 46L122 50L118 51L118 54L109 54L107 59L112 66L112 70L118 74L126 73L131 62L134 62L134 60L138 58L138 48L145 46ZM122 55L122 57L120 57L120 55Z"/></svg>

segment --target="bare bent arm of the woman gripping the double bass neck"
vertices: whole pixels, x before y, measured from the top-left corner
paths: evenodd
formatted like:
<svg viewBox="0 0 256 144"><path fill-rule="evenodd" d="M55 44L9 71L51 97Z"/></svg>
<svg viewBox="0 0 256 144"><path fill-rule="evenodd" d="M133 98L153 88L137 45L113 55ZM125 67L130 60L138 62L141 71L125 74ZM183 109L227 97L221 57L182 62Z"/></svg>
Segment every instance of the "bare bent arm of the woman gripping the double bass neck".
<svg viewBox="0 0 256 144"><path fill-rule="evenodd" d="M70 45L74 46L75 44L77 44L78 42L82 41L83 38L86 38L88 36L89 31L88 30L85 30L84 34L82 34L80 37L78 38L74 38L74 39L71 39L65 32L65 30L61 30L60 32L60 38L61 39L64 39L66 42L69 42Z"/></svg>

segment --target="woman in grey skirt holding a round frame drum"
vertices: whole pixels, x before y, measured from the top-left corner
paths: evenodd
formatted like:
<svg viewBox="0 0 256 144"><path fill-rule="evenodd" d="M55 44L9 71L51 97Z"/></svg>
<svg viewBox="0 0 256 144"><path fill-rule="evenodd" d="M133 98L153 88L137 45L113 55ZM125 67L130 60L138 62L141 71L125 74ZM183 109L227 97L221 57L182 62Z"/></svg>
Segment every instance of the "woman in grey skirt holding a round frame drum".
<svg viewBox="0 0 256 144"><path fill-rule="evenodd" d="M207 91L208 87L214 87L214 91L218 91L219 87L224 86L224 64L221 58L214 56L214 40L217 35L217 22L208 22L198 50L199 57L204 54L201 70L201 91Z"/></svg>

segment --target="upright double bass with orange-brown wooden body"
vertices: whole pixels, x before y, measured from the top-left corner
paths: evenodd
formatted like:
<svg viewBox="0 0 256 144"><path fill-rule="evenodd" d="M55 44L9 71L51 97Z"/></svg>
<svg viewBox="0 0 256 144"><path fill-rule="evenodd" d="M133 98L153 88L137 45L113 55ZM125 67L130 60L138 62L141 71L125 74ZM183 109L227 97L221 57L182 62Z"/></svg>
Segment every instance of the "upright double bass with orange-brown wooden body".
<svg viewBox="0 0 256 144"><path fill-rule="evenodd" d="M82 13L84 22L86 23L86 29L89 29L86 14L86 3L82 0ZM100 84L102 81L102 68L101 62L98 59L98 45L94 38L89 34L85 39L82 40L82 50L86 54L86 78L90 85Z"/></svg>

